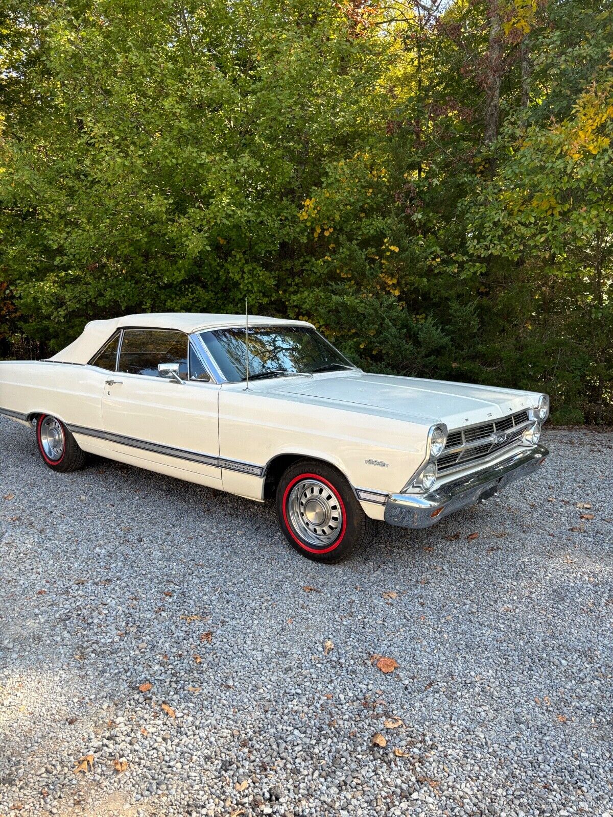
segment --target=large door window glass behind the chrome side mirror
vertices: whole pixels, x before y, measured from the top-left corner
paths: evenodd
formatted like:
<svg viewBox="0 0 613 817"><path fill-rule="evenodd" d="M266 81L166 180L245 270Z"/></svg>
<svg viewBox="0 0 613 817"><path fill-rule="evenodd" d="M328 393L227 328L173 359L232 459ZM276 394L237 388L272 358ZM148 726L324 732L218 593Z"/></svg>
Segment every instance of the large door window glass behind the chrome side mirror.
<svg viewBox="0 0 613 817"><path fill-rule="evenodd" d="M159 376L158 364L178 363L187 379L187 335L168 329L126 329L119 354L119 372Z"/></svg>

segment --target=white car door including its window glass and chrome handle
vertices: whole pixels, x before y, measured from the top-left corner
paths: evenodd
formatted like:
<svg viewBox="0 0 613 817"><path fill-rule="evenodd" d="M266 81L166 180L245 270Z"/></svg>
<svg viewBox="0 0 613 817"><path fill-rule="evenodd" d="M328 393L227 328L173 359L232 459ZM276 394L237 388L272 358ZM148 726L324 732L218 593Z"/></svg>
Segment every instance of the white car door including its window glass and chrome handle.
<svg viewBox="0 0 613 817"><path fill-rule="evenodd" d="M179 364L178 379L159 364ZM115 451L221 480L218 391L185 333L123 329L102 396L105 436Z"/></svg>

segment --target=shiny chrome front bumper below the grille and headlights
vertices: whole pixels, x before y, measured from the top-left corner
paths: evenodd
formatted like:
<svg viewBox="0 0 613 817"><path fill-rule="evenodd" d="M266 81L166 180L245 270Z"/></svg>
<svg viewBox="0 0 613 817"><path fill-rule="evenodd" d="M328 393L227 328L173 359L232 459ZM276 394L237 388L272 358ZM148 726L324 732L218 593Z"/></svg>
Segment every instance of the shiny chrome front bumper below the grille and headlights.
<svg viewBox="0 0 613 817"><path fill-rule="evenodd" d="M450 513L493 496L509 482L533 474L548 453L543 445L537 445L483 471L446 482L429 493L391 493L385 503L383 518L390 525L402 528L429 528Z"/></svg>

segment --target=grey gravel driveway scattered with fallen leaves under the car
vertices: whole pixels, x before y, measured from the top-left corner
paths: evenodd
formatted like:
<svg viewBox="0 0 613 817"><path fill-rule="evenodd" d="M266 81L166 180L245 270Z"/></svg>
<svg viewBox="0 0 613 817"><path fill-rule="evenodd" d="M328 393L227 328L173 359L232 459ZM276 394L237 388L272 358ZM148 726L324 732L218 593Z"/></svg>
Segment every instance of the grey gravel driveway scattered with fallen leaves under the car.
<svg viewBox="0 0 613 817"><path fill-rule="evenodd" d="M613 435L545 444L327 567L272 507L57 475L0 419L0 815L613 813Z"/></svg>

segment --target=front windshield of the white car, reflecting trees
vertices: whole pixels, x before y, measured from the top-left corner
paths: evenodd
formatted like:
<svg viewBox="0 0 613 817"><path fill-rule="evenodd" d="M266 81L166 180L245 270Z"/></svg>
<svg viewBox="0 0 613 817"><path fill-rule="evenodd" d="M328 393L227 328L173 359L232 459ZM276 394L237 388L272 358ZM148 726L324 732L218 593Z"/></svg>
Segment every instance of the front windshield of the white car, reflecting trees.
<svg viewBox="0 0 613 817"><path fill-rule="evenodd" d="M230 383L245 379L245 329L200 333L221 373ZM284 377L340 371L354 366L307 326L249 327L249 378Z"/></svg>

